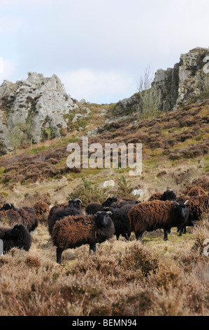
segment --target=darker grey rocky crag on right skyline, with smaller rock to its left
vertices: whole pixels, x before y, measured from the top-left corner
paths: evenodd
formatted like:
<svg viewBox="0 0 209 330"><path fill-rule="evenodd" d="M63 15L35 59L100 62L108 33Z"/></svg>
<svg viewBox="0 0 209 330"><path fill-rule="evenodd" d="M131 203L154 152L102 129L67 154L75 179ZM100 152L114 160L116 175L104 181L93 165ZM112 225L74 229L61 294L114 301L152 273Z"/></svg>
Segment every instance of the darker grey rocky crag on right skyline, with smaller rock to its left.
<svg viewBox="0 0 209 330"><path fill-rule="evenodd" d="M208 48L194 48L189 53L180 55L180 62L167 70L157 70L151 90L159 98L159 110L175 110L180 104L191 100L209 89L209 73L204 70ZM131 98L120 100L113 110L115 114L129 114L140 110L140 93Z"/></svg>

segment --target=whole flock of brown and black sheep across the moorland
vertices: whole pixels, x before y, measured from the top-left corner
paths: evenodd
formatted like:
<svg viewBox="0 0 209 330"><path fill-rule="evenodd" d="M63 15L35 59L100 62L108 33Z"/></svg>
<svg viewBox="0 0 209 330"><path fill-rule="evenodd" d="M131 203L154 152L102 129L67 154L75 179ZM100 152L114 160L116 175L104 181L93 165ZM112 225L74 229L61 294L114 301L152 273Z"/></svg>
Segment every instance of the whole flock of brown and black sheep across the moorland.
<svg viewBox="0 0 209 330"><path fill-rule="evenodd" d="M171 227L177 227L182 235L202 213L209 213L209 195L201 187L194 187L187 196L180 197L168 189L163 194L153 194L147 202L113 196L103 203L89 203L85 210L79 198L51 208L44 202L21 209L6 203L0 209L0 222L6 219L10 227L0 227L0 239L4 253L13 247L29 251L31 232L43 214L48 215L48 231L57 249L57 263L61 263L64 250L89 244L89 251L95 252L96 243L113 235L128 240L134 232L136 239L141 239L145 231L161 228L166 241Z"/></svg>

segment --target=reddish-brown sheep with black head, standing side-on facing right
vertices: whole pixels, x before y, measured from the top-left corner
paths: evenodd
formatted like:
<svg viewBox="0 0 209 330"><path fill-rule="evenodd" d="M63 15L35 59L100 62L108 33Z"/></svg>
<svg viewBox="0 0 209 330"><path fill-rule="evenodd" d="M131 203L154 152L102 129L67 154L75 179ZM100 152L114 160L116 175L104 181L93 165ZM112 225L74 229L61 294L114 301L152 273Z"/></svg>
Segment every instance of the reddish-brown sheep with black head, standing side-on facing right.
<svg viewBox="0 0 209 330"><path fill-rule="evenodd" d="M134 231L136 239L141 238L145 231L150 232L162 228L164 230L164 241L167 241L171 227L184 226L188 217L189 206L187 206L187 201L143 202L129 211L131 230Z"/></svg>

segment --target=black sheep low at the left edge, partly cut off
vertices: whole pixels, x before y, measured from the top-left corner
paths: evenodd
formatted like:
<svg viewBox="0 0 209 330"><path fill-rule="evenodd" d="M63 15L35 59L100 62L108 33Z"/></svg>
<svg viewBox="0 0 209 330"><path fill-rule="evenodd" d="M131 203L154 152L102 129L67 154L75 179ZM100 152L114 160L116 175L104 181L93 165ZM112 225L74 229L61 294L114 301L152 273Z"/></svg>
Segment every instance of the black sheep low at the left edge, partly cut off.
<svg viewBox="0 0 209 330"><path fill-rule="evenodd" d="M0 239L3 241L3 252L8 252L13 247L29 251L31 247L31 235L22 224L13 228L0 227Z"/></svg>

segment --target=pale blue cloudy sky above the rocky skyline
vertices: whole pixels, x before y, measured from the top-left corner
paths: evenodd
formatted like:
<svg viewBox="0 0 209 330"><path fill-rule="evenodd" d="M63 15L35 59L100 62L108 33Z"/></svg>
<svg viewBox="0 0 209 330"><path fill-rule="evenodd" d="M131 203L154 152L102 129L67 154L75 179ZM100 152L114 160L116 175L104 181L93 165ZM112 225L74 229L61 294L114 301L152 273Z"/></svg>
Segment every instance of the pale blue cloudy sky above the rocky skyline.
<svg viewBox="0 0 209 330"><path fill-rule="evenodd" d="M72 98L117 103L209 46L208 0L0 0L0 84L52 74Z"/></svg>

